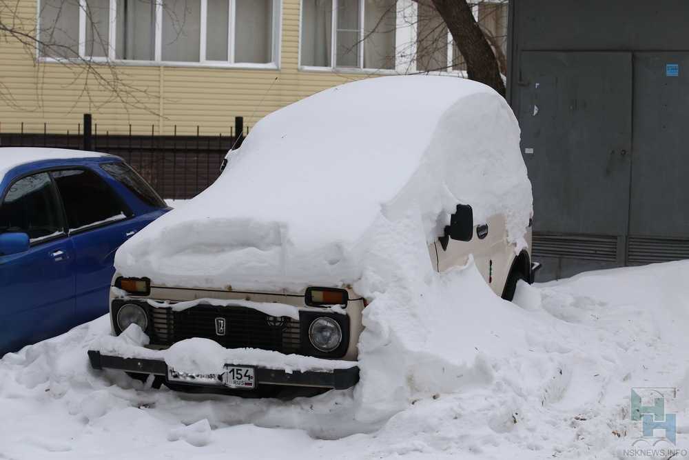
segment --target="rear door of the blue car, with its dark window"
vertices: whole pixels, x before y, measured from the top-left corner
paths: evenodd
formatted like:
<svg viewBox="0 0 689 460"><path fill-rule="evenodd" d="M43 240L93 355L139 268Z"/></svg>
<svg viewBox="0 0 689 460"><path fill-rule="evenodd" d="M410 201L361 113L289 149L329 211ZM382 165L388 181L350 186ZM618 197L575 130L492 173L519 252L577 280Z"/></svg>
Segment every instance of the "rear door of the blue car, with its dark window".
<svg viewBox="0 0 689 460"><path fill-rule="evenodd" d="M53 171L74 244L75 319L107 313L117 248L141 228L121 197L88 168Z"/></svg>

